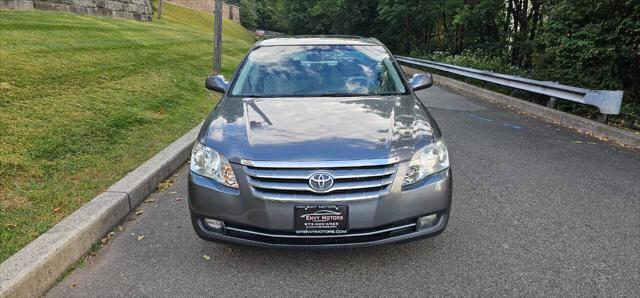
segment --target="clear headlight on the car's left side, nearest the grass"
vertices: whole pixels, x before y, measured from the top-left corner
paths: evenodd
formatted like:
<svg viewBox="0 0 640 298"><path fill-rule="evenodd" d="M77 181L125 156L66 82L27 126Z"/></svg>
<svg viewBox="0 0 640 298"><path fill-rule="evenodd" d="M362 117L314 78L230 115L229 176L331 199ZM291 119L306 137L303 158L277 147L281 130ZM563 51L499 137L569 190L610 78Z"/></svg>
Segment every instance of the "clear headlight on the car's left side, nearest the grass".
<svg viewBox="0 0 640 298"><path fill-rule="evenodd" d="M191 151L191 171L212 178L226 186L238 188L231 165L222 154L196 141Z"/></svg>

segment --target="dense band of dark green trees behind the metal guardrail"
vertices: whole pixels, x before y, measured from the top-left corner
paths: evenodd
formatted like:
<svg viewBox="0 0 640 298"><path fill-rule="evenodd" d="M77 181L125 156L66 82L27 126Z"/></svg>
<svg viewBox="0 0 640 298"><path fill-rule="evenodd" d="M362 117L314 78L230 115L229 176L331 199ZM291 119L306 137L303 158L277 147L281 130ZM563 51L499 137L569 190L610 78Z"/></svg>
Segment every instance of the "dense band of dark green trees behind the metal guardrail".
<svg viewBox="0 0 640 298"><path fill-rule="evenodd" d="M622 88L627 123L640 122L638 0L252 1L264 29L372 36L396 54L463 57L489 70Z"/></svg>

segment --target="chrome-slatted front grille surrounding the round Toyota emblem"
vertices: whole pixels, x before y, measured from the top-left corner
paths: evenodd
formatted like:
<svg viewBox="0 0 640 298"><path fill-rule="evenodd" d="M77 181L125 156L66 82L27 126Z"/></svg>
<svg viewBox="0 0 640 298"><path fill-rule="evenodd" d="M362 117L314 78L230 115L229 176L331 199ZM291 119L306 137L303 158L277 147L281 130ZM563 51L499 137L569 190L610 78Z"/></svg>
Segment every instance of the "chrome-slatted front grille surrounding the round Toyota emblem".
<svg viewBox="0 0 640 298"><path fill-rule="evenodd" d="M398 164L349 167L259 167L246 165L244 172L253 195L264 200L276 201L351 201L375 199L391 190ZM317 193L309 186L314 173L333 176L330 190Z"/></svg>

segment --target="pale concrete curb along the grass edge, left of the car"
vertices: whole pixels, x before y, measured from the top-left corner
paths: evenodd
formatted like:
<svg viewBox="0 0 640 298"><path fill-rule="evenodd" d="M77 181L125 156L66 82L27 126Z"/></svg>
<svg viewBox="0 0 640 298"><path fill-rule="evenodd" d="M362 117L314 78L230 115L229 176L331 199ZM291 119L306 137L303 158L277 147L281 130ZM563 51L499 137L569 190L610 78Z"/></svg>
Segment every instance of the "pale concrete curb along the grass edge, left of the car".
<svg viewBox="0 0 640 298"><path fill-rule="evenodd" d="M2 262L0 297L34 297L49 290L93 243L189 159L201 125Z"/></svg>

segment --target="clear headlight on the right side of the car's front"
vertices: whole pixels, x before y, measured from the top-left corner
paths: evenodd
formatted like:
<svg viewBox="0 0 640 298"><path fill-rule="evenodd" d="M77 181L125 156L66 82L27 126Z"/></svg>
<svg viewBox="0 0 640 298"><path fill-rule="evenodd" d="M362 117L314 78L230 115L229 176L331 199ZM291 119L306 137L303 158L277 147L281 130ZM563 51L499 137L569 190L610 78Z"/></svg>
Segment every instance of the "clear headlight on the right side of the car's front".
<svg viewBox="0 0 640 298"><path fill-rule="evenodd" d="M449 168L449 153L442 139L420 149L413 156L402 185L416 183L433 173Z"/></svg>

